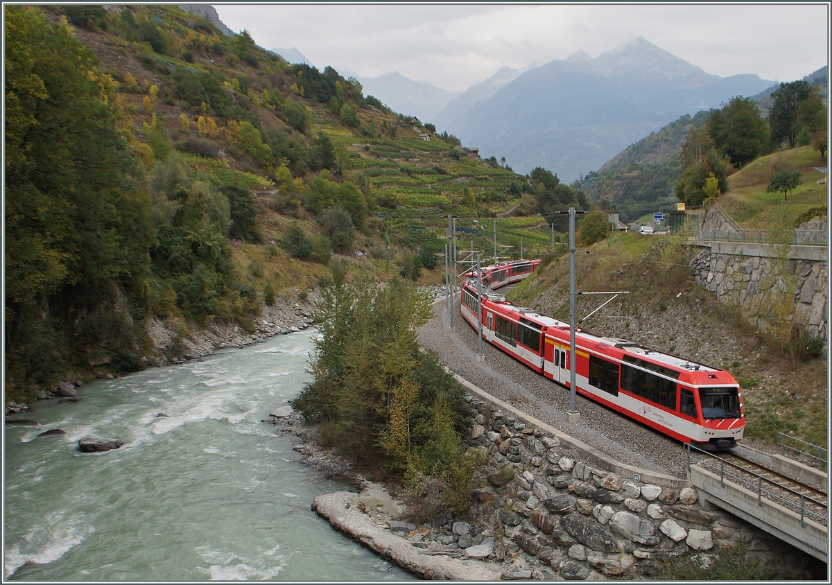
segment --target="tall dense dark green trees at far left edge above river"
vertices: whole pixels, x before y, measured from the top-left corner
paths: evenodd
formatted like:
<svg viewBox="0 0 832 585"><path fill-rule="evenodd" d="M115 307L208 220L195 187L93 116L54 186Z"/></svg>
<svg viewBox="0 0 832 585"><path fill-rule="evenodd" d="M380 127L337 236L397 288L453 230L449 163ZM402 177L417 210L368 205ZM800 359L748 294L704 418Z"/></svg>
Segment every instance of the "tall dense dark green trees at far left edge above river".
<svg viewBox="0 0 832 585"><path fill-rule="evenodd" d="M137 361L137 334L121 327L132 317L119 299L141 307L152 227L142 171L116 129L111 78L97 72L66 22L52 25L37 7L4 11L4 357L12 393L51 384L80 361L84 331L97 351L132 351ZM121 333L102 338L87 327L92 314Z"/></svg>

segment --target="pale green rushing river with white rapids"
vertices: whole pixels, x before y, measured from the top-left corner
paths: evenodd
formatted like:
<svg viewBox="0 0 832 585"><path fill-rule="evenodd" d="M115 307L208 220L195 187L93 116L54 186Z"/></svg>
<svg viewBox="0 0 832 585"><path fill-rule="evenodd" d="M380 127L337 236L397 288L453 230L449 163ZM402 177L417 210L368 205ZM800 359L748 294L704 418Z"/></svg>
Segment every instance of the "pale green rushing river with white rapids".
<svg viewBox="0 0 832 585"><path fill-rule="evenodd" d="M100 379L5 427L5 576L32 581L403 581L310 511L344 489L262 419L292 399L314 331ZM167 414L170 418L159 417ZM48 429L65 435L37 438ZM82 454L77 440L121 439Z"/></svg>

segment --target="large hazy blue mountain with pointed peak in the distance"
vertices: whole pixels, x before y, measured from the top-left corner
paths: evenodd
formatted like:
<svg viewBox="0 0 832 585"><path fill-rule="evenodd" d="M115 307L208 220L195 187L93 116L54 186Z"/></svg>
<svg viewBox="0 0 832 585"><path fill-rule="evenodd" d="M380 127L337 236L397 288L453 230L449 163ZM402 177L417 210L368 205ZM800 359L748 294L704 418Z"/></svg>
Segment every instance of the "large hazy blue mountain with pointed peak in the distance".
<svg viewBox="0 0 832 585"><path fill-rule="evenodd" d="M599 57L579 52L523 72L447 130L516 171L542 166L568 182L684 114L772 83L710 75L639 37Z"/></svg>

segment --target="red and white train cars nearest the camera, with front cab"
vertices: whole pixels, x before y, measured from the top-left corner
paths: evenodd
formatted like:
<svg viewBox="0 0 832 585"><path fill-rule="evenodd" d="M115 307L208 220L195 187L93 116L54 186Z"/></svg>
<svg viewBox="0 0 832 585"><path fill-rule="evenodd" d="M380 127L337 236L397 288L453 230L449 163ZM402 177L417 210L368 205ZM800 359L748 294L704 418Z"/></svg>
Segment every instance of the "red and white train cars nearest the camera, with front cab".
<svg viewBox="0 0 832 585"><path fill-rule="evenodd" d="M483 339L569 388L569 324L509 303L484 286L488 276L483 270L481 309L476 276L465 278L464 319L478 329L479 315ZM575 350L578 394L702 449L731 449L742 440L740 384L728 372L582 328Z"/></svg>

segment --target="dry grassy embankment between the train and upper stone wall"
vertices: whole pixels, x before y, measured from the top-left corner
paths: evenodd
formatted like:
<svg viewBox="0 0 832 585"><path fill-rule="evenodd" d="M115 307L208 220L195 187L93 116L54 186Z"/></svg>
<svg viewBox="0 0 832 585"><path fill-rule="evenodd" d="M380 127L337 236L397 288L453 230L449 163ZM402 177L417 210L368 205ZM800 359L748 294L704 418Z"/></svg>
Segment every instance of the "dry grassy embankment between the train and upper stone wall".
<svg viewBox="0 0 832 585"><path fill-rule="evenodd" d="M627 290L579 326L632 340L727 369L742 387L745 438L751 446L775 447L777 433L812 444L828 439L827 364L792 361L734 311L697 285L687 265L690 250L666 237L621 233L577 256L578 291ZM569 319L567 255L538 269L509 300ZM608 297L577 297L582 320Z"/></svg>

